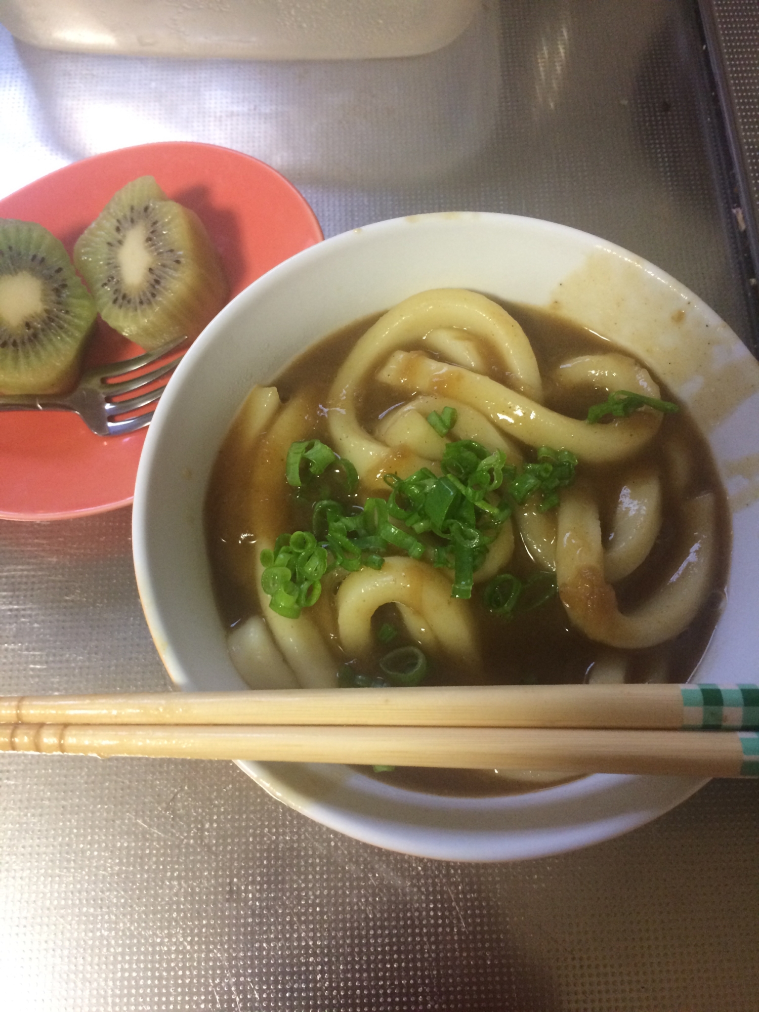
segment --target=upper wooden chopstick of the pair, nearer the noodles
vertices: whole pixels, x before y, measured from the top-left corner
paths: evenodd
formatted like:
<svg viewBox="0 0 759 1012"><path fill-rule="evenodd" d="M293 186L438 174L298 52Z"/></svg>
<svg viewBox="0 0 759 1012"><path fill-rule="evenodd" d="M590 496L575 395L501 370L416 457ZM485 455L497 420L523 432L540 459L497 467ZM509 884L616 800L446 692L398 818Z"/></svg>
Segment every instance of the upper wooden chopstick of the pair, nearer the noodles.
<svg viewBox="0 0 759 1012"><path fill-rule="evenodd" d="M756 685L499 685L0 696L0 724L759 728Z"/></svg>

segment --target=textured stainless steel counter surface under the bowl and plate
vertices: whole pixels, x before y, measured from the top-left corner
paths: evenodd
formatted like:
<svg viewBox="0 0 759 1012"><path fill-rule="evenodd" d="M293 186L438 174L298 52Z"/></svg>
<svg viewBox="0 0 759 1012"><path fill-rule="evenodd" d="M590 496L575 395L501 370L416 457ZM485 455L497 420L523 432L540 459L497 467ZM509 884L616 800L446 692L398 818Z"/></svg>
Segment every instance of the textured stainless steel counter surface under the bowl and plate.
<svg viewBox="0 0 759 1012"><path fill-rule="evenodd" d="M649 257L748 340L690 3L490 4L400 63L43 54L0 29L0 192L184 138L280 168L332 235L460 208ZM1 424L1 422L0 422ZM0 524L0 691L158 689L130 515ZM759 783L586 851L419 860L230 764L0 761L0 1006L21 1012L756 1012Z"/></svg>

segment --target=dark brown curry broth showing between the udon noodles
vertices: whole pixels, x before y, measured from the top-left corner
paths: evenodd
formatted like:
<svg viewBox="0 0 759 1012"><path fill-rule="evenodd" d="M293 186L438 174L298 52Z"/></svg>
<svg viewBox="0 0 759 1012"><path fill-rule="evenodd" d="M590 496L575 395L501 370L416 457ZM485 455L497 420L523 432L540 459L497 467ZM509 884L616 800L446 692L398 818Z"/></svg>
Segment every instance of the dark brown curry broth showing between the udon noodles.
<svg viewBox="0 0 759 1012"><path fill-rule="evenodd" d="M532 344L540 373L545 380L551 372L569 357L617 351L609 341L566 320L544 311L523 306L506 305L505 308L521 324ZM307 392L308 409L305 411L301 439L319 438L330 442L328 411L324 407L333 376L345 356L377 317L351 324L325 338L292 361L275 380L282 402L297 391ZM417 347L424 347L423 341ZM429 351L429 349L425 348ZM622 352L623 353L623 352ZM498 364L486 355L487 370L494 378L504 382ZM656 378L656 377L654 377ZM661 386L661 385L660 385ZM547 407L575 418L584 418L588 407L599 401L597 394L568 395L552 390L546 384ZM675 400L662 387L662 397ZM358 402L359 421L371 429L373 424L393 407L403 404L397 391L380 383L367 385ZM627 610L644 599L660 582L666 567L681 551L678 537L678 512L672 484L668 481L670 470L665 442L677 442L687 448L689 477L687 494L710 491L718 505L718 559L714 567L711 592L699 614L688 628L673 640L646 650L627 650L627 680L646 681L650 678L673 682L686 681L698 664L711 637L724 601L727 566L730 554L730 524L727 500L720 483L710 449L696 428L689 413L682 409L675 415L665 416L657 436L637 457L623 465L593 468L578 466L578 476L587 475L594 487L600 489L601 521L608 524L618 497L623 475L637 465L655 462L662 476L663 523L646 562L630 576L615 584L621 610ZM244 513L235 508L236 500L245 496L252 456L243 454L234 438L234 429L228 436L217 460L206 497L206 537L212 562L214 584L220 612L228 628L258 611L255 588L252 585L255 542L245 524L231 524L231 516ZM353 497L358 502L357 497ZM237 504L239 506L239 503ZM308 504L299 503L297 497L286 494L277 504L282 532L310 529L311 517ZM508 570L526 578L535 571L520 538L515 538L515 551ZM251 580L240 582L239 574L250 572ZM237 575L236 575L237 574ZM480 603L477 585L472 598L483 656L483 670L478 681L493 684L552 684L583 682L588 679L593 665L607 651L602 645L587 640L570 626L559 597L534 611L525 612L513 619L491 614ZM350 661L341 654L334 636L334 590L325 586L322 599L312 609L313 617L325 632L325 638L339 662ZM376 663L381 654L389 649L409 643L403 623L394 615L395 607L386 605L374 618L375 627L390 620L399 630L392 647L382 647L377 641L377 654L368 665L367 673L378 673ZM298 620L298 619L293 619ZM372 664L374 665L372 669ZM362 666L362 671L366 669ZM431 659L425 684L452 684L461 681L461 673L442 657ZM503 793L513 789L534 789L534 785L520 785L502 781L493 774L478 771L397 770L383 774L384 779L410 788L433 789L442 793Z"/></svg>

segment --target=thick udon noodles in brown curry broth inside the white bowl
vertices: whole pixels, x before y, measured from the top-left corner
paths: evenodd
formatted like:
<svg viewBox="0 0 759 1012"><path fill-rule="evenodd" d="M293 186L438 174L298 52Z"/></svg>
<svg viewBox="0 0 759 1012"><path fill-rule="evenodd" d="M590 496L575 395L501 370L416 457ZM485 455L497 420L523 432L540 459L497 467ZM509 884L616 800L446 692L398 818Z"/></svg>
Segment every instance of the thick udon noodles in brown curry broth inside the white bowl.
<svg viewBox="0 0 759 1012"><path fill-rule="evenodd" d="M635 410L589 423L588 409L620 391L638 396ZM398 684L384 659L400 648L423 658L429 684L686 680L719 614L729 531L708 447L687 412L659 407L674 410L671 400L609 342L472 291L422 292L325 339L251 392L212 477L208 546L235 666L256 687ZM331 462L293 486L290 447L314 440ZM453 444L507 476L502 485L456 485ZM544 463L560 458L556 472ZM551 496L517 494L536 460L565 478ZM431 507L409 506L415 481L436 495L446 476L446 494L462 490L479 518L456 528L459 547L461 530L479 537L468 563L440 547ZM377 547L391 528L376 520L362 528L373 547L341 564L320 500L339 500L325 515L348 518L380 517L375 504L390 500L402 533ZM330 565L321 594L310 591L318 599L288 617L270 606L266 571L281 571L282 535L294 531L314 531Z"/></svg>

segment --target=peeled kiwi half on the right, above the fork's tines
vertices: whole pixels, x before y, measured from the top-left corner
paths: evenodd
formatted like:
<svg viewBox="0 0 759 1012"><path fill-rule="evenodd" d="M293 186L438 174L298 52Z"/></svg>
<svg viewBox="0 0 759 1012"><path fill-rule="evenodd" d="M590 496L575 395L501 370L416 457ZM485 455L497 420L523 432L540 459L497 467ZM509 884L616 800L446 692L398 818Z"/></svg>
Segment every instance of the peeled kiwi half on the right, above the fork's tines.
<svg viewBox="0 0 759 1012"><path fill-rule="evenodd" d="M197 337L229 291L203 224L153 176L111 197L77 240L74 262L103 320L147 350Z"/></svg>

